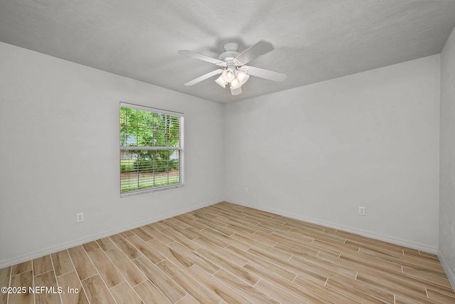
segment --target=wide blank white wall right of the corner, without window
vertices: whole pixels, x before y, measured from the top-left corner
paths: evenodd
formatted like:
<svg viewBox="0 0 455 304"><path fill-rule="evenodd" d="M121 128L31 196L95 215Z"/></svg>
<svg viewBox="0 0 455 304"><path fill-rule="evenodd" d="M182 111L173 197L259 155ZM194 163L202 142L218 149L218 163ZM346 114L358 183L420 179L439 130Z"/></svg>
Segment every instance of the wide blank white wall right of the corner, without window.
<svg viewBox="0 0 455 304"><path fill-rule="evenodd" d="M228 201L437 252L439 55L225 111Z"/></svg>

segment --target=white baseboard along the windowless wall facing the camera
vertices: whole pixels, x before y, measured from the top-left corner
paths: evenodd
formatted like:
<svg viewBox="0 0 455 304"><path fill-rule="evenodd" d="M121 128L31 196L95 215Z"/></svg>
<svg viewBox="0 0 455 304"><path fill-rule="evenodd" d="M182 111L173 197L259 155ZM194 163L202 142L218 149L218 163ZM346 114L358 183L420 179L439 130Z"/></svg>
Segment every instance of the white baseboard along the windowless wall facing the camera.
<svg viewBox="0 0 455 304"><path fill-rule="evenodd" d="M226 201L228 201L228 202L230 202L232 204L237 204L237 205L240 205L240 206L246 206L246 207L250 207L250 208L253 208L253 209L267 211L267 212L270 212L270 213L273 213L273 214L279 214L279 215L282 215L282 216L287 216L287 217L290 217L291 219L299 219L301 221L308 221L309 223L312 223L312 224L318 224L318 225L321 225L321 226L327 226L327 227L330 227L330 228L333 228L333 229L343 230L343 231L347 231L347 232L350 232L350 233L353 233L353 234L359 234L360 236L366 236L368 238L377 239L377 240L380 240L380 241L386 241L388 243L394 243L396 245L405 246L405 247L409 247L409 248L414 248L414 249L417 249L417 250L420 250L420 251L424 251L424 252L428 252L428 253L437 254L437 252L438 252L438 248L437 247L427 246L427 245L422 244L422 243L416 243L416 242L413 242L413 241L397 239L397 238L394 238L392 236L385 236L385 235L382 235L382 234L375 234L375 233L370 232L370 231L365 231L365 230L357 229L357 228L350 227L350 226L344 226L344 225L341 225L341 224L331 223L331 222L328 222L328 221L322 221L320 219L313 219L313 218L307 217L307 216L299 216L297 214L291 214L289 212L279 211L277 209L267 208L267 207L263 207L263 206L257 206L257 205L253 205L253 204L247 204L247 203L245 203L243 201L235 201L235 200L228 200L228 199Z"/></svg>

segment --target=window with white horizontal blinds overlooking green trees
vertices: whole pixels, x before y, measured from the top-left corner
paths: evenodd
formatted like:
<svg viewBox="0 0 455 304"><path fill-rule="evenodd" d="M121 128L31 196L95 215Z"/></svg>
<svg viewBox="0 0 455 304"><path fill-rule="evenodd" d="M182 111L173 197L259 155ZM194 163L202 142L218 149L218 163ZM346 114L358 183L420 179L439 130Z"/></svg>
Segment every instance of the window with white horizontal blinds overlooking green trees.
<svg viewBox="0 0 455 304"><path fill-rule="evenodd" d="M120 103L120 194L183 187L183 114Z"/></svg>

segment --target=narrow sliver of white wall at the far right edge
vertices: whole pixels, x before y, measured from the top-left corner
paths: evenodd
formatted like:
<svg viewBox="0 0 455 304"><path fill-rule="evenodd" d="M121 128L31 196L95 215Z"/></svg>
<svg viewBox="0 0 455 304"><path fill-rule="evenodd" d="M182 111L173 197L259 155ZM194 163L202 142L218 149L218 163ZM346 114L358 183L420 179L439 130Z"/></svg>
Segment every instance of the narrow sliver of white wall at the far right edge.
<svg viewBox="0 0 455 304"><path fill-rule="evenodd" d="M439 258L455 288L455 29L441 52Z"/></svg>

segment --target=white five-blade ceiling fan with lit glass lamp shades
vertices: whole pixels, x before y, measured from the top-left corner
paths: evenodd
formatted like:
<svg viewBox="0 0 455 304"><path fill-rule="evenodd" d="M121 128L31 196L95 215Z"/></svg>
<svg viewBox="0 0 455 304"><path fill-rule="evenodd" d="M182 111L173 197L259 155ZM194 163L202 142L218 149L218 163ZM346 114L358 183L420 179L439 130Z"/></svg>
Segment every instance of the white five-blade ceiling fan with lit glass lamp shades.
<svg viewBox="0 0 455 304"><path fill-rule="evenodd" d="M179 54L190 56L201 61L215 63L215 65L218 65L220 67L218 70L213 70L196 79L188 81L188 83L185 83L185 85L195 85L196 83L200 83L200 81L221 74L220 77L215 80L215 82L223 88L226 88L226 85L229 85L230 93L232 95L239 95L242 93L242 85L247 82L248 78L250 78L250 75L279 82L286 79L286 75L282 73L246 65L253 59L264 55L265 53L269 53L269 51L272 51L274 49L272 43L269 43L269 41L261 40L254 46L247 48L242 53L237 52L237 48L237 43L226 43L225 52L221 53L220 56L218 56L218 59L211 58L193 51L178 51Z"/></svg>

